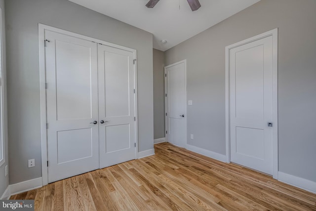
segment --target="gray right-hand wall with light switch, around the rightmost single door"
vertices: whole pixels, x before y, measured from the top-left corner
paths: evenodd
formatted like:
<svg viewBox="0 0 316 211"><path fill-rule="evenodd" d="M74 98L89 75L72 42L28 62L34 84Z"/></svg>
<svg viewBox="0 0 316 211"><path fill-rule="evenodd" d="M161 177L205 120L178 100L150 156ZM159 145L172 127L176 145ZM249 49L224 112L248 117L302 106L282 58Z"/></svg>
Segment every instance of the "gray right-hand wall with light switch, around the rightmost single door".
<svg viewBox="0 0 316 211"><path fill-rule="evenodd" d="M278 28L279 171L316 181L315 11L316 0L261 0L165 52L166 65L187 59L189 144L225 154L225 46Z"/></svg>

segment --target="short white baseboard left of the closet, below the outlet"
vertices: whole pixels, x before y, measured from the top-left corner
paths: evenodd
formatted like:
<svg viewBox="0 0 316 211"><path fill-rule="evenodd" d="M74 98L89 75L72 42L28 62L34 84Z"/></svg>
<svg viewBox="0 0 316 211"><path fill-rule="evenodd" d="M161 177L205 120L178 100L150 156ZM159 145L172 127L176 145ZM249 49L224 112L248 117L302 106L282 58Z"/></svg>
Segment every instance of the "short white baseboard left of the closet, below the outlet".
<svg viewBox="0 0 316 211"><path fill-rule="evenodd" d="M23 193L29 190L42 187L42 178L30 179L27 181L19 182L10 186L10 195Z"/></svg>

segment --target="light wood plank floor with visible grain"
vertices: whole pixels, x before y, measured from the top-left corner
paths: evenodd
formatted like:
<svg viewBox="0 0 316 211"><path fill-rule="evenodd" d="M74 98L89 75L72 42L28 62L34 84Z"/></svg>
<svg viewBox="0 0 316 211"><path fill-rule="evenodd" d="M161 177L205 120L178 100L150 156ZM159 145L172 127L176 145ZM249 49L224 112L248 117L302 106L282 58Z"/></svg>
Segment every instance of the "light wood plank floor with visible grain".
<svg viewBox="0 0 316 211"><path fill-rule="evenodd" d="M169 143L156 155L12 196L39 211L316 210L316 195Z"/></svg>

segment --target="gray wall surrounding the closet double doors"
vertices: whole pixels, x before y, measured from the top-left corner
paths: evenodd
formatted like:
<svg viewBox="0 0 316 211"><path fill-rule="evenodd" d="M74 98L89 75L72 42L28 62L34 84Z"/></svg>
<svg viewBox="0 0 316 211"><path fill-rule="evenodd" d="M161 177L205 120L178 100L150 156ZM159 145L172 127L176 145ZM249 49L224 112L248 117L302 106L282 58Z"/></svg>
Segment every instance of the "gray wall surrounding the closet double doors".
<svg viewBox="0 0 316 211"><path fill-rule="evenodd" d="M68 0L5 0L10 184L41 176L38 23L137 50L138 151L153 149L153 35ZM28 169L27 160L36 166Z"/></svg>

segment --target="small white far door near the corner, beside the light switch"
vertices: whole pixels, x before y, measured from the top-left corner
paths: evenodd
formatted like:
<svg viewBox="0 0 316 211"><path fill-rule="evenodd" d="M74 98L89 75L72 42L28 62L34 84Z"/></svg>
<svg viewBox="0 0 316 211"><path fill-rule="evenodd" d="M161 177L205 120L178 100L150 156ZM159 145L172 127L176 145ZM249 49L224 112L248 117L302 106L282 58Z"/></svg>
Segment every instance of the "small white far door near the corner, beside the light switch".
<svg viewBox="0 0 316 211"><path fill-rule="evenodd" d="M186 61L165 67L165 91L167 141L180 147L186 147Z"/></svg>

